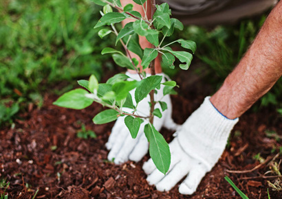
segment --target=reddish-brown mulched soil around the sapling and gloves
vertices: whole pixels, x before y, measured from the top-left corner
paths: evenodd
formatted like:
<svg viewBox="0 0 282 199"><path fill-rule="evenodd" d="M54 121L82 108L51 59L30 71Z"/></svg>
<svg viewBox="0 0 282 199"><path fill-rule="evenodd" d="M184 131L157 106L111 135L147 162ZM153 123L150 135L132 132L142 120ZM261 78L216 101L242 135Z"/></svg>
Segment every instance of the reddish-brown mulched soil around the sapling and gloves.
<svg viewBox="0 0 282 199"><path fill-rule="evenodd" d="M171 97L173 119L182 124L211 90L186 72L177 75L176 81L181 89L180 95ZM273 168L282 159L282 117L273 108L245 113L232 130L219 163L206 174L195 194L183 196L178 193L179 184L168 192L148 185L142 164L149 154L140 163L114 165L107 161L105 143L114 122L94 125L91 121L102 106L60 108L52 105L57 97L45 94L42 108L30 104L14 128L0 130L0 186L3 181L10 183L6 191L9 198L32 198L38 189L36 198L241 198L224 176L229 176L249 198L268 198L268 190L270 198L282 198L282 191L268 185L268 181L279 183ZM83 124L96 132L96 139L77 137ZM166 141L171 141L173 132L161 132ZM272 134L267 136L266 132ZM267 162L261 164L254 159L257 154L261 162Z"/></svg>

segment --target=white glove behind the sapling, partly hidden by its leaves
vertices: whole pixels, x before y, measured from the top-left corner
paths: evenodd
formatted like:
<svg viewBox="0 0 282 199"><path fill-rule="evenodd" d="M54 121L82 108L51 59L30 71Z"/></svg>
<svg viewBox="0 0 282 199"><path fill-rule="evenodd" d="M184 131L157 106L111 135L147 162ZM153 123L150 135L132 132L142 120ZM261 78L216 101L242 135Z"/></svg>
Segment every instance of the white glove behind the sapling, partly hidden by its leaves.
<svg viewBox="0 0 282 199"><path fill-rule="evenodd" d="M138 74L131 74L128 72L126 74L133 80L140 81ZM164 73L159 73L157 75L164 76ZM165 82L164 78L162 79L162 82ZM155 126L156 130L160 130L162 126L171 130L175 130L177 128L177 124L175 124L173 122L173 119L171 119L171 99L169 95L163 96L163 88L164 86L161 84L160 90L158 90L158 93L155 94L155 101L161 100L162 102L166 102L167 109L162 112L162 118L154 117L153 125ZM130 91L129 93L131 93L131 96L133 98L133 104L136 105L134 99L134 92L135 89ZM144 100L139 102L135 114L140 116L149 116L149 102L150 97L148 95L146 98L144 98ZM156 104L155 108L160 108L160 104ZM130 108L123 108L123 110L128 113L132 112ZM107 149L111 150L108 154L108 160L112 161L114 159L113 162L116 164L121 164L128 160L136 162L140 161L142 157L147 154L149 148L149 143L144 134L144 126L147 123L148 122L144 120L144 122L140 126L140 130L138 132L137 137L133 139L127 126L125 126L124 124L124 117L118 117L116 124L111 130L109 140L106 143Z"/></svg>

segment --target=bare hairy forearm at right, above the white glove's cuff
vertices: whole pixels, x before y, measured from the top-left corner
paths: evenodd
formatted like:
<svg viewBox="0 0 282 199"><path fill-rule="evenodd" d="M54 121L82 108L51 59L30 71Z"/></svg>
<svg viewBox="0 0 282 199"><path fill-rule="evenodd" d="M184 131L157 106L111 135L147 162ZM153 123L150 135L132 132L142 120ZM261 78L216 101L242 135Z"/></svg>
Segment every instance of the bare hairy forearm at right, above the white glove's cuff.
<svg viewBox="0 0 282 199"><path fill-rule="evenodd" d="M282 75L282 2L266 19L246 55L210 102L230 119L241 116Z"/></svg>

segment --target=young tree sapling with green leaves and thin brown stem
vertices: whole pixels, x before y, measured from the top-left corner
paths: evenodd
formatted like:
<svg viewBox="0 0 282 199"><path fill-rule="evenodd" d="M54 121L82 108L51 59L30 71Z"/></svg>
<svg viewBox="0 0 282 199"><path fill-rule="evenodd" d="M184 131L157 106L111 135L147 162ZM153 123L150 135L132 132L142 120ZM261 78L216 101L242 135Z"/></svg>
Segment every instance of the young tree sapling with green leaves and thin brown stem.
<svg viewBox="0 0 282 199"><path fill-rule="evenodd" d="M102 17L94 28L103 27L98 35L100 38L108 34L116 34L116 44L121 43L126 54L111 47L102 49L101 54L112 54L113 61L120 67L135 70L140 77L140 81L130 80L129 76L124 73L118 73L109 78L106 83L98 83L96 77L91 75L89 80L79 80L78 84L85 89L75 89L65 93L54 102L57 106L65 108L83 109L90 106L93 102L102 104L109 109L98 113L93 119L94 124L105 124L115 121L118 117L125 117L124 123L131 133L131 137L135 139L142 122L145 122L144 133L149 141L150 156L155 166L160 172L166 174L171 163L171 153L169 145L153 126L154 116L162 117L162 112L166 110L165 102L154 100L154 93L160 91L163 87L163 95L174 93L173 87L176 86L175 81L162 82L162 76L155 75L154 60L158 54L162 55L162 62L171 69L175 68L173 64L175 58L180 60L181 69L187 70L193 58L192 54L196 50L195 42L192 40L177 39L169 44L163 45L166 37L172 36L175 29L183 30L183 25L177 19L171 18L171 10L167 3L155 5L155 1L151 1L152 14L151 19L142 16L140 12L133 10L132 4L122 7L120 0L93 0L94 3L103 6ZM144 12L147 13L147 0L133 0L135 3L142 5ZM148 0L149 1L149 0ZM113 12L113 9L118 12ZM118 32L115 24L120 23L124 19L133 19L135 21L127 23ZM111 30L108 29L111 27ZM144 50L139 45L139 36L145 36L151 48ZM175 51L170 45L180 43L180 45L188 49L188 51ZM141 66L136 58L132 58L129 51L140 57ZM147 76L144 69L150 68L151 75ZM131 92L130 92L131 91ZM133 93L133 95L131 95ZM138 103L150 95L149 115L141 116L136 113ZM155 108L155 104L159 103L160 108ZM129 110L131 111L125 111Z"/></svg>

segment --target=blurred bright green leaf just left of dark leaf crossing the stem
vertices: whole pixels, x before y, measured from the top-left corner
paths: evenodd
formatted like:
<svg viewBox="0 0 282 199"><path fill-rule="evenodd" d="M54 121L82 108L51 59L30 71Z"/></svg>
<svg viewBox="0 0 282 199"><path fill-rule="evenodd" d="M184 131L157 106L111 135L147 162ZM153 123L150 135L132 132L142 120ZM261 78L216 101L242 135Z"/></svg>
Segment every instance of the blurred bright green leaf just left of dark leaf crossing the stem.
<svg viewBox="0 0 282 199"><path fill-rule="evenodd" d="M139 82L134 80L134 81L124 81L124 82L116 82L113 84L113 91L116 93L116 100L123 100L124 98L127 97L127 94L129 91L132 89L135 89L136 86L138 86Z"/></svg>

